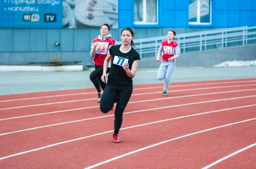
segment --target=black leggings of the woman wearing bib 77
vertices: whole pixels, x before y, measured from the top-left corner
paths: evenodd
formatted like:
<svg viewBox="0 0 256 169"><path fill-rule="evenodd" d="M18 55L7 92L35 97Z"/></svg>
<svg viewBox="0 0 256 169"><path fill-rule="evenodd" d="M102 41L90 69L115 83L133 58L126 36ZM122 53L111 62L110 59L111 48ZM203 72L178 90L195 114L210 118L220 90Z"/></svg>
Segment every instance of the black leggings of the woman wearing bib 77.
<svg viewBox="0 0 256 169"><path fill-rule="evenodd" d="M132 84L125 87L107 85L102 94L102 99L100 101L100 110L102 113L108 113L112 109L116 97L118 97L115 110L114 133L118 134L121 128L122 115L129 99L131 98L132 90Z"/></svg>

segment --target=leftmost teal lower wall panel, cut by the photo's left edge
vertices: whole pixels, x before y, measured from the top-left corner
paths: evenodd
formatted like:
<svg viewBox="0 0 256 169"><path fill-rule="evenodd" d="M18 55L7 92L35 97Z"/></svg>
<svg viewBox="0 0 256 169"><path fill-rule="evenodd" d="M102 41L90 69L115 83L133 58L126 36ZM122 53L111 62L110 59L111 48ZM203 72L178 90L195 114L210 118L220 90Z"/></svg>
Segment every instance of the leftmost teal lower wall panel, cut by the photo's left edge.
<svg viewBox="0 0 256 169"><path fill-rule="evenodd" d="M12 51L13 37L12 29L0 29L0 52L1 51Z"/></svg>

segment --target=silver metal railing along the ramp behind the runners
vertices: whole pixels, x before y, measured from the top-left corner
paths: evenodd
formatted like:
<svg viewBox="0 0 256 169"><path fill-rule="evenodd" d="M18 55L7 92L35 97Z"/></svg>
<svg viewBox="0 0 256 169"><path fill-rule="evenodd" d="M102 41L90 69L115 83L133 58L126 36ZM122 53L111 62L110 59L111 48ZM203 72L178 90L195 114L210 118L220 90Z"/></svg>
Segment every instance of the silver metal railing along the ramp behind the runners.
<svg viewBox="0 0 256 169"><path fill-rule="evenodd" d="M160 42L163 39L167 39L167 36L135 39L135 49L142 58L143 54L148 54L151 57L157 56ZM177 34L175 36L175 41L180 45L181 53L227 48L234 45L247 45L250 40L250 43L256 43L256 41L253 41L254 39L256 39L256 27L247 26ZM234 44L234 42L236 43ZM119 42L119 44L121 43Z"/></svg>

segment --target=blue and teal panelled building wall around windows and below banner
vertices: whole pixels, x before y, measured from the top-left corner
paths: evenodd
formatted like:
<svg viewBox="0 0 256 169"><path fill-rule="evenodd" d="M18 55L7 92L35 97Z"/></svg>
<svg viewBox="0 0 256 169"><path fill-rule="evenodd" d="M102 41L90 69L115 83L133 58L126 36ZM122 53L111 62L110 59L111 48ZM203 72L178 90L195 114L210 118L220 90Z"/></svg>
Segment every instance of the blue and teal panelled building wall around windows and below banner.
<svg viewBox="0 0 256 169"><path fill-rule="evenodd" d="M134 0L119 0L119 28L111 29L120 41L122 28L131 27L135 38L164 36L217 28L256 26L256 0L212 0L212 25L188 24L188 0L159 0L158 25L134 25ZM0 63L86 62L99 29L0 28ZM55 46L60 42L60 46Z"/></svg>

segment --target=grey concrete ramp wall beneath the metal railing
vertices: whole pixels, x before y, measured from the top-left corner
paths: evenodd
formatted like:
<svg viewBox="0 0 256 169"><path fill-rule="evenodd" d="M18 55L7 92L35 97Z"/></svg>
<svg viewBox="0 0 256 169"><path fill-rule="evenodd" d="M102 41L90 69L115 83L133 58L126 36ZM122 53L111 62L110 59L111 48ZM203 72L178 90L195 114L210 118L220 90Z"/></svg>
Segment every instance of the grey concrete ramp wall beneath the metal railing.
<svg viewBox="0 0 256 169"><path fill-rule="evenodd" d="M226 61L256 60L256 44L180 54L176 66L212 66ZM158 68L156 57L143 58L139 68Z"/></svg>

